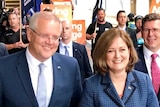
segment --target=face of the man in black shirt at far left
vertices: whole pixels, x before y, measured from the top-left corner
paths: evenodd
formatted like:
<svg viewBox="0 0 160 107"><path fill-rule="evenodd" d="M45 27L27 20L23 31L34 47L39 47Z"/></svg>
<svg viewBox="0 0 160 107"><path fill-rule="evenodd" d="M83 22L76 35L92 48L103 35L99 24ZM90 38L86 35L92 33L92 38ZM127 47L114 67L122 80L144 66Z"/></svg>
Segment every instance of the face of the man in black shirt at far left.
<svg viewBox="0 0 160 107"><path fill-rule="evenodd" d="M19 18L16 14L11 14L8 18L8 22L11 28L19 26Z"/></svg>

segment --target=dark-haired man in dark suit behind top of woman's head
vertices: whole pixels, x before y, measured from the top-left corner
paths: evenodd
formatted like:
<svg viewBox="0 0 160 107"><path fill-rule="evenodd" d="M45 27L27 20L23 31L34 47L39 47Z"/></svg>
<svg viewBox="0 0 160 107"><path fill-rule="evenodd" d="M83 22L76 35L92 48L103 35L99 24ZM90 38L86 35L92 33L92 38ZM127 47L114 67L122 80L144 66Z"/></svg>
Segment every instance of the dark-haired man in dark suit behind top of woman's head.
<svg viewBox="0 0 160 107"><path fill-rule="evenodd" d="M126 26L127 15L126 15L126 12L124 10L118 11L118 13L117 13L117 22L118 22L117 28L126 31L130 35L134 47L138 48L136 30L131 29L128 26Z"/></svg>

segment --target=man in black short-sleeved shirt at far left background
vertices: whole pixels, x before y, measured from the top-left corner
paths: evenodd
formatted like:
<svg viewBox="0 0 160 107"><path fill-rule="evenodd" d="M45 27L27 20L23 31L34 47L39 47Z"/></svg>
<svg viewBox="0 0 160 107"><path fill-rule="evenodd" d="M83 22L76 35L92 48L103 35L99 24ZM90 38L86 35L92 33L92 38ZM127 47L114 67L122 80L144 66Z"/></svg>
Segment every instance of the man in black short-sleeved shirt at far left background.
<svg viewBox="0 0 160 107"><path fill-rule="evenodd" d="M25 29L22 30L20 40L20 22L16 13L11 12L8 16L9 29L1 36L0 41L5 43L9 54L18 52L28 46Z"/></svg>

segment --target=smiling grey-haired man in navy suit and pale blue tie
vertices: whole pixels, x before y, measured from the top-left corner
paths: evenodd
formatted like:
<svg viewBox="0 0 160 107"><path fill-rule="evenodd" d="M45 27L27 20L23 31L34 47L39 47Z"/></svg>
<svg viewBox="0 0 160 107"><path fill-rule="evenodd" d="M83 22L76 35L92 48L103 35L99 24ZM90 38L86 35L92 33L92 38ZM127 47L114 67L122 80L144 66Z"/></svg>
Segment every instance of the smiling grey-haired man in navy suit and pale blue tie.
<svg viewBox="0 0 160 107"><path fill-rule="evenodd" d="M0 107L77 107L82 89L79 66L75 58L56 53L61 31L52 12L31 17L27 49L0 60Z"/></svg>

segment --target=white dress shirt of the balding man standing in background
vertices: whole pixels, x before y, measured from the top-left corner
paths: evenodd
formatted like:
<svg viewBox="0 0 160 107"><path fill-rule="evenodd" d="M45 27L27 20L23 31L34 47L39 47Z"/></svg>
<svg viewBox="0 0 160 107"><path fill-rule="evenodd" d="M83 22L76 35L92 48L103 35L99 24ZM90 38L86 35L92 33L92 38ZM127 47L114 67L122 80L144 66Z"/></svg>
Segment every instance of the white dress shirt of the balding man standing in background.
<svg viewBox="0 0 160 107"><path fill-rule="evenodd" d="M67 46L67 50L69 52L69 56L73 57L73 42L69 42L67 45L64 44L62 41L60 41L60 46L59 46L59 53L62 55L65 55L65 48L64 46Z"/></svg>

